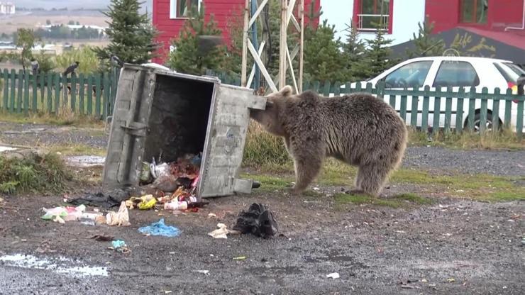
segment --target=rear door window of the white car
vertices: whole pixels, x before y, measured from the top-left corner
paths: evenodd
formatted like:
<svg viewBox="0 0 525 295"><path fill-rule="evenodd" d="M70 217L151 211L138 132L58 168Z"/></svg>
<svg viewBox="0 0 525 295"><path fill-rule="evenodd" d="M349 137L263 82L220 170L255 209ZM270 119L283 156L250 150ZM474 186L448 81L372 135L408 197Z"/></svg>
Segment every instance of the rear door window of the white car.
<svg viewBox="0 0 525 295"><path fill-rule="evenodd" d="M470 62L446 60L441 62L433 87L475 87L480 77Z"/></svg>

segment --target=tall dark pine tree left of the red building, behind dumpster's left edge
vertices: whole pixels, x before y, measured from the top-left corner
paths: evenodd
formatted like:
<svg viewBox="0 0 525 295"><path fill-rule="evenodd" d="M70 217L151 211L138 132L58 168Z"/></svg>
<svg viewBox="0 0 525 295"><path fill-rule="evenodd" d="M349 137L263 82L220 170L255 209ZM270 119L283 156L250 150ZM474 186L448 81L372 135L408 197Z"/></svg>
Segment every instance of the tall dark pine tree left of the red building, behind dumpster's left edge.
<svg viewBox="0 0 525 295"><path fill-rule="evenodd" d="M105 16L111 18L106 34L111 43L106 48L96 48L101 59L109 60L116 55L123 62L140 64L154 57L158 44L154 39L157 30L151 25L147 14L140 14L138 0L111 0Z"/></svg>

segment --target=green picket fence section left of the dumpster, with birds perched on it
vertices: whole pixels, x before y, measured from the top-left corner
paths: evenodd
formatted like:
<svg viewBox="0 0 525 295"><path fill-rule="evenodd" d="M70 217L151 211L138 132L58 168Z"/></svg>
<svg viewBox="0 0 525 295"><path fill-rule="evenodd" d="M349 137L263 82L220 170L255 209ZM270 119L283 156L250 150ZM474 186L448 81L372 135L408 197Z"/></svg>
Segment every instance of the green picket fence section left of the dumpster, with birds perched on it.
<svg viewBox="0 0 525 295"><path fill-rule="evenodd" d="M71 74L55 72L33 75L11 69L0 72L0 109L8 113L57 113L70 108L95 118L111 116L116 97L118 69L103 74Z"/></svg>

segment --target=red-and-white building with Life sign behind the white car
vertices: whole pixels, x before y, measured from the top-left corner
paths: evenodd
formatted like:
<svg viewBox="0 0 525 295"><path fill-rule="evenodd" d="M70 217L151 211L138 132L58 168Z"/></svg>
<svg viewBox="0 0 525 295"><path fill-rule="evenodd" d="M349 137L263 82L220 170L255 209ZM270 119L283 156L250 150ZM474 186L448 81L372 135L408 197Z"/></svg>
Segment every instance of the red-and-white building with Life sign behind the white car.
<svg viewBox="0 0 525 295"><path fill-rule="evenodd" d="M447 40L463 38L464 50L485 48L478 56L499 57L525 62L525 0L321 0L323 18L336 25L344 39L350 17L360 38L371 39L382 21L385 38L394 51L405 52L418 31L418 23L428 17L433 33ZM456 37L457 36L457 37ZM470 43L470 44L467 44ZM502 44L499 44L502 43ZM494 50L492 50L494 47ZM491 52L492 50L493 52Z"/></svg>

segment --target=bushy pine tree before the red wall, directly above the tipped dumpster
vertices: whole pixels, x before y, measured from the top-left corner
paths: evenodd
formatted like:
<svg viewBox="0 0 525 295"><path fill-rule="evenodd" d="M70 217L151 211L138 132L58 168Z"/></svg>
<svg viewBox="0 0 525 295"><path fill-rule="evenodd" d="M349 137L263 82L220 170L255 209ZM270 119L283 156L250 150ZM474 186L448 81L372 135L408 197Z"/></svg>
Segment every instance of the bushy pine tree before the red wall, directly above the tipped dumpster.
<svg viewBox="0 0 525 295"><path fill-rule="evenodd" d="M179 37L172 40L175 50L170 52L167 65L179 72L197 75L205 74L206 69L222 70L226 60L226 47L219 45L208 52L200 52L199 37L203 35L221 35L213 16L207 23L204 21L204 5L199 12L192 9Z"/></svg>

